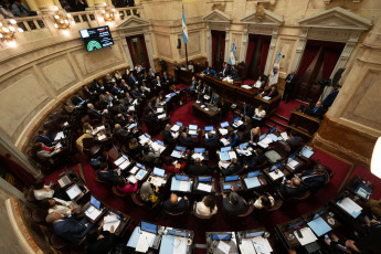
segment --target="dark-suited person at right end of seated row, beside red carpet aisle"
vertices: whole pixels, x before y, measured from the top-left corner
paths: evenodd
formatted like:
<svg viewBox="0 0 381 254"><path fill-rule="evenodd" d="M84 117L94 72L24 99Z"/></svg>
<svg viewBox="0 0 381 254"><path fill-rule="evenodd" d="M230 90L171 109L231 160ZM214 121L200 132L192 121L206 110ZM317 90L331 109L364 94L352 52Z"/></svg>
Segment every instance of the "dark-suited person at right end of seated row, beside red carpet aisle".
<svg viewBox="0 0 381 254"><path fill-rule="evenodd" d="M326 182L326 169L322 165L315 165L313 169L305 170L297 176L300 178L301 184L310 190L322 187Z"/></svg>

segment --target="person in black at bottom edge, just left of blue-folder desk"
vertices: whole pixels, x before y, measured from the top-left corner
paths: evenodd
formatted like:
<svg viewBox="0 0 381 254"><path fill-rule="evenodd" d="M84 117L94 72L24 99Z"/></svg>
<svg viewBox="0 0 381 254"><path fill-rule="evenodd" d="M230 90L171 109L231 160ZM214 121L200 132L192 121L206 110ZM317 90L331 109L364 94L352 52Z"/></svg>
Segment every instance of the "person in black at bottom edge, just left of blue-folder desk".
<svg viewBox="0 0 381 254"><path fill-rule="evenodd" d="M115 227L110 226L109 231L102 231L104 221L98 229L92 229L87 236L87 253L92 254L108 254L113 246L116 244L116 236L114 234Z"/></svg>

